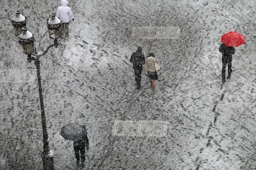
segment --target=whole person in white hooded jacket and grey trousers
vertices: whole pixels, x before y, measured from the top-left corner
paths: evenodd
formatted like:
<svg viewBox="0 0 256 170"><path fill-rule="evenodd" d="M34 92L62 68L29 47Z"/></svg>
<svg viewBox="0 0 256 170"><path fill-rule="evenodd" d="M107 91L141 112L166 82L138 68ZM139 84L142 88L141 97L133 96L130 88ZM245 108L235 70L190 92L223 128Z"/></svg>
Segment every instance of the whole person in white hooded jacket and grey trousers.
<svg viewBox="0 0 256 170"><path fill-rule="evenodd" d="M69 21L74 21L73 12L70 7L67 6L67 0L61 0L61 6L58 7L56 12L56 17L62 22L62 31L63 35L68 37L69 36Z"/></svg>

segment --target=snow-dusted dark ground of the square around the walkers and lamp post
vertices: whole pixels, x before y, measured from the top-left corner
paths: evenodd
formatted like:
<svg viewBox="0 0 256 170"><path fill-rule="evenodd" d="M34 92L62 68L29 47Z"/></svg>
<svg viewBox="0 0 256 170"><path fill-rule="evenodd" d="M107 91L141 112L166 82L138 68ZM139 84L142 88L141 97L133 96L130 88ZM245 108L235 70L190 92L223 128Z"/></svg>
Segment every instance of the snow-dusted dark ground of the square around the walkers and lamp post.
<svg viewBox="0 0 256 170"><path fill-rule="evenodd" d="M41 51L51 43L45 23L59 1L1 3L1 73L35 69L8 18L17 9L26 15ZM67 123L87 126L84 169L256 169L256 1L70 0L69 6L70 37L40 59L55 169L75 169L73 144L59 134ZM178 39L137 39L134 26L181 32ZM221 89L220 36L234 30L247 39ZM129 57L138 45L160 61L155 95L146 76L142 91L135 89ZM36 79L12 83L18 75L9 76L0 85L0 169L42 169ZM116 120L168 121L166 136L113 136Z"/></svg>

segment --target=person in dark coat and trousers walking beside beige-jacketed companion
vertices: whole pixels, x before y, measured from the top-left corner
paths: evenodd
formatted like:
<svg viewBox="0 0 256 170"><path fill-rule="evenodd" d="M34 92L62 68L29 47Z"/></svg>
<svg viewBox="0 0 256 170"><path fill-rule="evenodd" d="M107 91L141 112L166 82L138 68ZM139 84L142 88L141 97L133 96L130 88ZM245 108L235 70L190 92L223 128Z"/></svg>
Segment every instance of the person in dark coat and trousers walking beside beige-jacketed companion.
<svg viewBox="0 0 256 170"><path fill-rule="evenodd" d="M142 69L145 64L145 55L142 52L142 47L138 47L137 51L132 53L130 62L134 65L135 81L137 89L141 89L140 81L142 80Z"/></svg>

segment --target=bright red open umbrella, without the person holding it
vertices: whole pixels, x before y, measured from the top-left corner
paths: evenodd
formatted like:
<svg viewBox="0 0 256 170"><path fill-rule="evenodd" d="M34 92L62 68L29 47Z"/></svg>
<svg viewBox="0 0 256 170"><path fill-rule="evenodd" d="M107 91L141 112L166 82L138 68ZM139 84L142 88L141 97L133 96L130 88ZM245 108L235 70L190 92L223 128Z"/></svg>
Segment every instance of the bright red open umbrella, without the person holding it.
<svg viewBox="0 0 256 170"><path fill-rule="evenodd" d="M221 42L227 47L238 47L245 43L245 36L236 31L230 31L221 36Z"/></svg>

